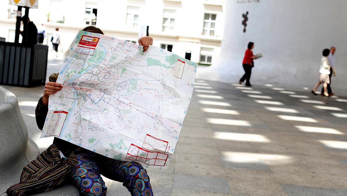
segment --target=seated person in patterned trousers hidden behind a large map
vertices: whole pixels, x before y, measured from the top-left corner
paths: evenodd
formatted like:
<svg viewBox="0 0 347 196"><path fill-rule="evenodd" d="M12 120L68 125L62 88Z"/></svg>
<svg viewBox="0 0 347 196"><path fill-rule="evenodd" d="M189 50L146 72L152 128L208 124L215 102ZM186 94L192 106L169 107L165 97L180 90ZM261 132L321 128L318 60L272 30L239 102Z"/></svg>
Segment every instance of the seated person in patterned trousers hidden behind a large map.
<svg viewBox="0 0 347 196"><path fill-rule="evenodd" d="M82 30L103 34L99 28L94 26L88 26ZM152 45L153 39L151 37L140 37L138 43L143 46L145 52L149 45ZM43 96L36 106L36 123L41 130L48 113L49 96L64 88L63 85L56 83L58 75L59 73L52 74L49 77ZM68 157L71 152L76 155L78 163L71 172L71 177L81 195L106 195L107 187L105 187L100 175L123 183L123 186L129 190L131 195L153 195L150 178L141 164L108 158L57 137L54 137L53 144L59 149L61 158Z"/></svg>

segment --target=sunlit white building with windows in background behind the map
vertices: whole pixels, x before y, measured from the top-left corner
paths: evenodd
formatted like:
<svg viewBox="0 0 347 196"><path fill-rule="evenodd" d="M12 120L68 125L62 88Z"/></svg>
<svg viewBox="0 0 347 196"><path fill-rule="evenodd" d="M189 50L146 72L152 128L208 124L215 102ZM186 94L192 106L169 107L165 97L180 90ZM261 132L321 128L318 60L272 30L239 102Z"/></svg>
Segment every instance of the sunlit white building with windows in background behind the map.
<svg viewBox="0 0 347 196"><path fill-rule="evenodd" d="M15 37L16 10L8 0L0 0L0 37L9 42ZM224 10L225 0L40 0L29 18L46 27L44 44L49 46L52 32L59 28L61 51L88 25L134 43L139 26L147 25L154 46L182 57L191 51L192 61L213 64L220 53Z"/></svg>

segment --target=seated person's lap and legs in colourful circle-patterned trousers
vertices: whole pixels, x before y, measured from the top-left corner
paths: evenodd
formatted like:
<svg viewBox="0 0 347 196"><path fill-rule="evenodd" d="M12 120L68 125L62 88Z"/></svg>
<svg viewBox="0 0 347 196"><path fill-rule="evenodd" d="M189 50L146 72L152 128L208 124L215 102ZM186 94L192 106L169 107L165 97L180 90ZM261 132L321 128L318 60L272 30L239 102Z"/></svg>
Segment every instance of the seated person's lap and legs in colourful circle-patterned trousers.
<svg viewBox="0 0 347 196"><path fill-rule="evenodd" d="M71 174L81 195L105 196L107 187L100 175L123 183L133 196L152 196L147 171L136 162L119 161L92 151L77 149L77 164Z"/></svg>

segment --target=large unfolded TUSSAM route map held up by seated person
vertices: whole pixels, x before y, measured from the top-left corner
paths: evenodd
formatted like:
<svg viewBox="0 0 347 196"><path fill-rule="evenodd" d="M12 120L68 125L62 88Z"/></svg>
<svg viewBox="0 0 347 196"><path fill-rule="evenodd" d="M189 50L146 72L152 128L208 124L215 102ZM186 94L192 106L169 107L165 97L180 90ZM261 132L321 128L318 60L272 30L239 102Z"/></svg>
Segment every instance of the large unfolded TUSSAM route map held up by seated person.
<svg viewBox="0 0 347 196"><path fill-rule="evenodd" d="M49 97L41 138L165 169L193 93L197 64L158 47L79 31Z"/></svg>

